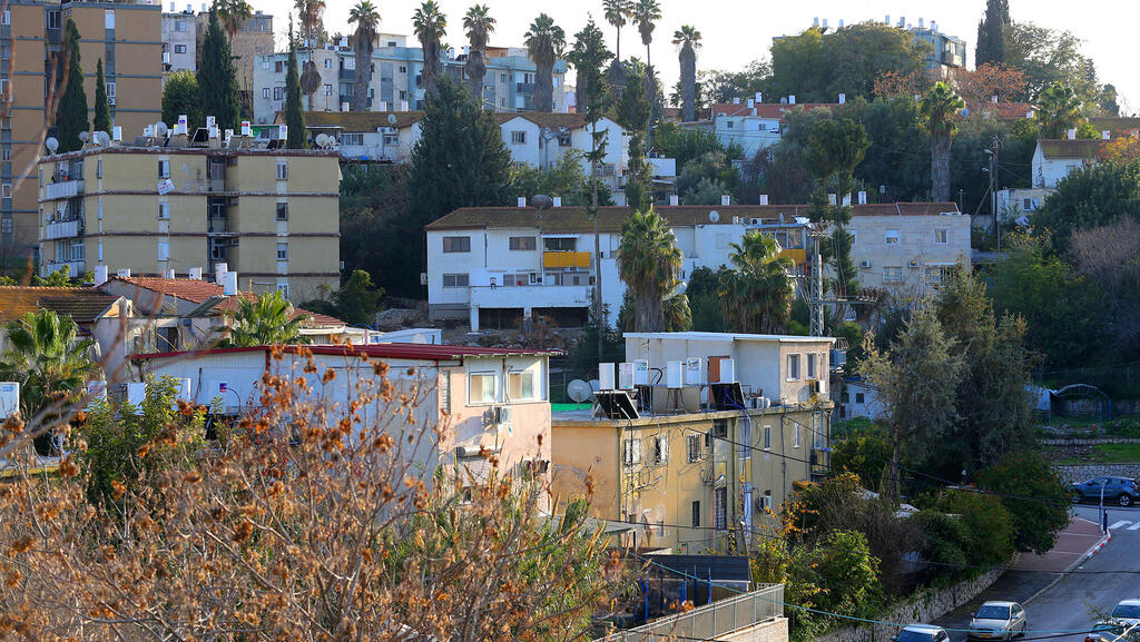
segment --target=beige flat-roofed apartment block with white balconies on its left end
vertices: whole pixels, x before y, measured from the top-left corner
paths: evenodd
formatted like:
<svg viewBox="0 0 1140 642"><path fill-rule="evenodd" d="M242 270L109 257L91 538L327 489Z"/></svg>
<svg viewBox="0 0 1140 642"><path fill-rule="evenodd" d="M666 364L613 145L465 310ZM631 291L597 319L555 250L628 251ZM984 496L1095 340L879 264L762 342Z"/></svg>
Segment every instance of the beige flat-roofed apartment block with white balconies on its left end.
<svg viewBox="0 0 1140 642"><path fill-rule="evenodd" d="M307 300L320 285L335 289L336 154L198 133L202 143L144 137L43 157L41 271L210 275L225 263L244 291Z"/></svg>

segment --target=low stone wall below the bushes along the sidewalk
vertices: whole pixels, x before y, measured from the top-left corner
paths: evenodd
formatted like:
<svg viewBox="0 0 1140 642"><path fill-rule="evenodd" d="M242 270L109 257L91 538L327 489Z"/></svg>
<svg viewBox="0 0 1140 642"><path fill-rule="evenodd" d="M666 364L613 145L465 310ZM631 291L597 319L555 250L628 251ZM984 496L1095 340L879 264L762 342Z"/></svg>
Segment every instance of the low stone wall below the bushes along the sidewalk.
<svg viewBox="0 0 1140 642"><path fill-rule="evenodd" d="M986 572L976 579L960 582L940 590L925 590L896 606L887 613L877 618L880 621L895 623L901 626L883 624L864 624L846 626L821 635L816 642L887 642L898 633L902 626L909 624L929 624L950 611L969 602L997 580L1004 569Z"/></svg>

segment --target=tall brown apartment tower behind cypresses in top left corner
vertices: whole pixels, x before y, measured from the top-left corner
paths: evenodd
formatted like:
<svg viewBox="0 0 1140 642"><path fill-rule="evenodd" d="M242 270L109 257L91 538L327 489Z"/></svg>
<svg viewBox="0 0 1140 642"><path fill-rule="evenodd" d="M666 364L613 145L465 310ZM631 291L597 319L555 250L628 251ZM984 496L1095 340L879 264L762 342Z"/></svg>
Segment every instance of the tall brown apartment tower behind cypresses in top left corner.
<svg viewBox="0 0 1140 642"><path fill-rule="evenodd" d="M162 117L161 7L135 2L11 0L0 15L0 245L23 258L35 247L36 161L55 117L63 27L75 22L84 84L95 117L101 58L112 122L131 131ZM15 258L15 257L14 257Z"/></svg>

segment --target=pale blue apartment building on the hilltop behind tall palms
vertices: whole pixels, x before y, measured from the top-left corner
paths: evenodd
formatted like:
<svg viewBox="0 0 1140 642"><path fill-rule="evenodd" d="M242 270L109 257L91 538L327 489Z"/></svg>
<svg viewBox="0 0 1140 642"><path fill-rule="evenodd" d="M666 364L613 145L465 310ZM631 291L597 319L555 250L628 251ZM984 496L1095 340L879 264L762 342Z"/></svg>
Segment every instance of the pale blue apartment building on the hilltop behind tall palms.
<svg viewBox="0 0 1140 642"><path fill-rule="evenodd" d="M372 82L368 87L369 111L407 112L423 108L423 50L409 47L405 35L380 34L372 58ZM455 49L441 54L442 73L456 81L465 79L466 54ZM285 105L287 52L258 55L253 68L253 119L271 123ZM306 98L309 111L337 112L355 106L356 54L347 41L298 52L299 64L312 60L320 74L320 87ZM535 73L537 67L523 48L487 49L487 75L483 79L483 104L502 112L534 109ZM567 62L554 64L554 112L565 112L562 88L565 86Z"/></svg>

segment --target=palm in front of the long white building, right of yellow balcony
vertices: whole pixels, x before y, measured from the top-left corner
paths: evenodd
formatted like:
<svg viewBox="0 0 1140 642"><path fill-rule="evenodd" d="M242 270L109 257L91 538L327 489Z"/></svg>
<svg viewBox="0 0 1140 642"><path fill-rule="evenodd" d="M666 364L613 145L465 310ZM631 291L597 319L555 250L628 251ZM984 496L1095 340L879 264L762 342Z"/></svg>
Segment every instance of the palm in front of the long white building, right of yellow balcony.
<svg viewBox="0 0 1140 642"><path fill-rule="evenodd" d="M653 208L634 212L621 225L618 271L633 292L635 332L665 327L665 298L677 283L683 260L677 237Z"/></svg>

